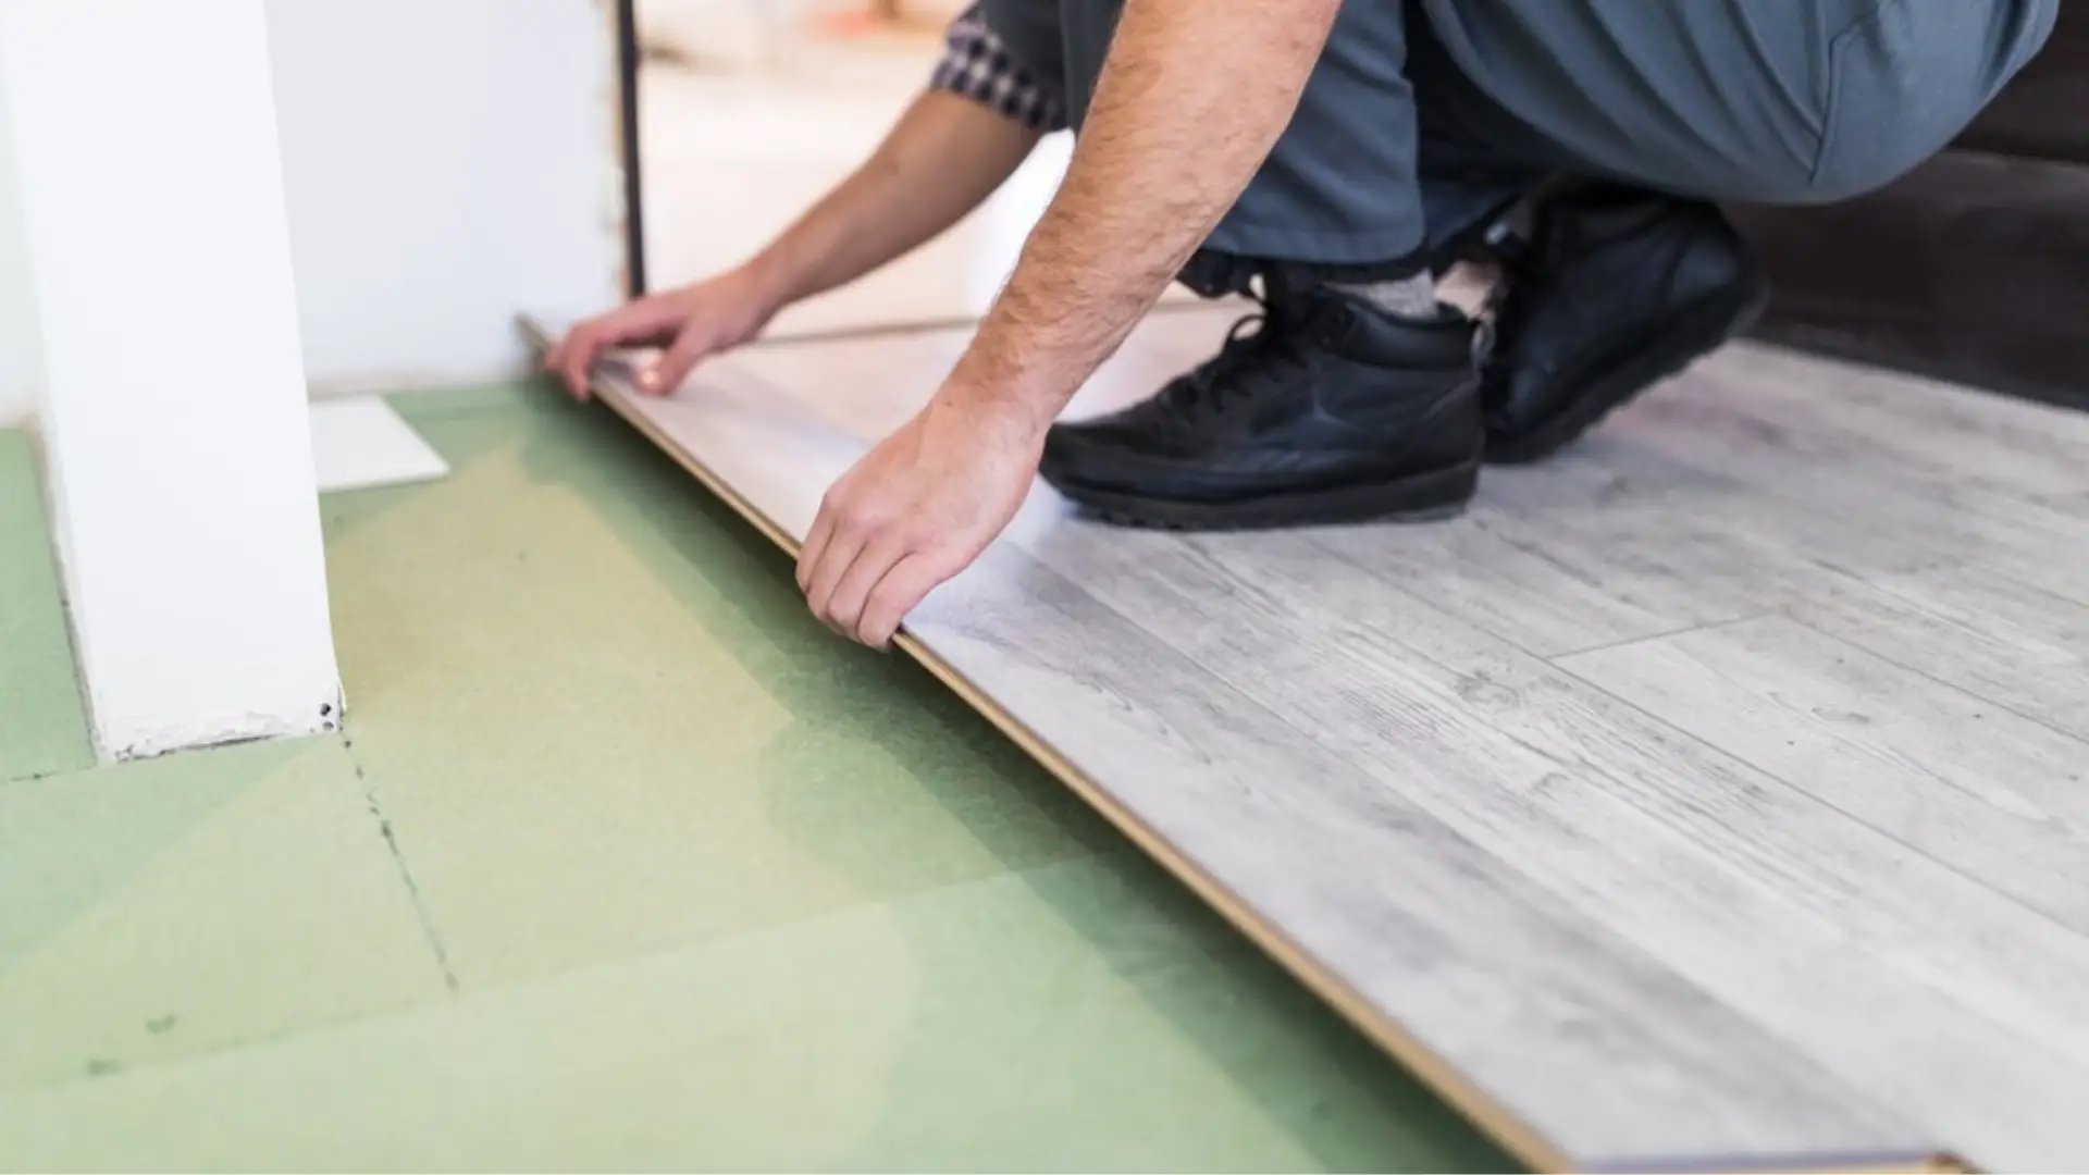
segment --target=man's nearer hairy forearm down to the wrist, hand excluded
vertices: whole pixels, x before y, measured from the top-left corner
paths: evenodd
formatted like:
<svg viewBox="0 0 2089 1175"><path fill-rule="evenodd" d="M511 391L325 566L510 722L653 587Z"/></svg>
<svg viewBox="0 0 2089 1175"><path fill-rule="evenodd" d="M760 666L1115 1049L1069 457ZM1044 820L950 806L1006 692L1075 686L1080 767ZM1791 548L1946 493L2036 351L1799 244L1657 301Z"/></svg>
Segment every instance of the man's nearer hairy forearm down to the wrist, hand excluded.
<svg viewBox="0 0 2089 1175"><path fill-rule="evenodd" d="M1130 0L1072 167L946 385L1042 429L1233 207L1339 0Z"/></svg>

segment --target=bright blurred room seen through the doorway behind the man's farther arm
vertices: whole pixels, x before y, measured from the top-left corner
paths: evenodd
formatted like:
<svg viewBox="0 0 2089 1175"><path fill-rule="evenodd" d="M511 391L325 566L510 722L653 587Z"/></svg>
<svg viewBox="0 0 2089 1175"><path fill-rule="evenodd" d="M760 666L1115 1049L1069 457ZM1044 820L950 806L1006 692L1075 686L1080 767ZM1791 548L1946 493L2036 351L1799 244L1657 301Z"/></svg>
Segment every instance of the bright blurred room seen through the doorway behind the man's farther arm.
<svg viewBox="0 0 2089 1175"><path fill-rule="evenodd" d="M637 0L652 289L746 259L846 178L921 92L963 0ZM1065 169L1051 136L928 249L788 309L771 337L971 318Z"/></svg>

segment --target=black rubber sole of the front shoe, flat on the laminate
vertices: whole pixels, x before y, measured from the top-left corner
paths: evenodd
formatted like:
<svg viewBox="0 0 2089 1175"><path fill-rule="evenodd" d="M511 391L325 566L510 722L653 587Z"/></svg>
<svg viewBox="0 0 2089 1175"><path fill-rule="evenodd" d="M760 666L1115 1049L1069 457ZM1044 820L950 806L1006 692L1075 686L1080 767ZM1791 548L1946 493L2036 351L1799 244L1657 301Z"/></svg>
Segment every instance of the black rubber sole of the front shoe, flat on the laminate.
<svg viewBox="0 0 2089 1175"><path fill-rule="evenodd" d="M1441 523L1464 514L1479 489L1473 460L1437 473L1370 485L1304 493L1270 493L1243 502L1180 502L1107 489L1057 487L1093 519L1157 531L1266 531L1343 523Z"/></svg>

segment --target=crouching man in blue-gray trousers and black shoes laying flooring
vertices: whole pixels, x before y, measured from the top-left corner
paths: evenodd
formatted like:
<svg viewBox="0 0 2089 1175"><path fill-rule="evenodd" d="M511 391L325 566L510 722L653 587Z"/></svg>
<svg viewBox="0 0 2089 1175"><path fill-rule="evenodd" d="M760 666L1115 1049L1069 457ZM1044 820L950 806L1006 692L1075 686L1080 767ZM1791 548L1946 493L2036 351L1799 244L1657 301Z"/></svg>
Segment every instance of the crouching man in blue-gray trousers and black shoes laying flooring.
<svg viewBox="0 0 2089 1175"><path fill-rule="evenodd" d="M982 0L869 163L744 268L572 330L666 345L675 389L779 307L984 201L1042 132L1067 176L928 406L834 487L798 558L884 646L1042 473L1107 519L1435 519L1744 328L1763 280L1711 201L1817 203L1941 151L2058 0ZM1523 224L1523 232L1512 226ZM1506 270L1492 330L1441 305ZM1260 286L1210 362L1055 424L1170 280Z"/></svg>

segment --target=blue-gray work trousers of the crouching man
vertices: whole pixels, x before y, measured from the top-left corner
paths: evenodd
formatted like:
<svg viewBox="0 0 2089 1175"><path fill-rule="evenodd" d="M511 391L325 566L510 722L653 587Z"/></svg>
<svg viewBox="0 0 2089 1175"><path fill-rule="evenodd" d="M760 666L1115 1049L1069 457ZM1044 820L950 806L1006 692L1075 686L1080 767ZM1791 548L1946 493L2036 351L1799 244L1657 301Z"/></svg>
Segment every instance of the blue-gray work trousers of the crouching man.
<svg viewBox="0 0 2089 1175"><path fill-rule="evenodd" d="M1124 0L984 0L1078 132ZM1272 0L1210 0L1272 2ZM2089 2L2089 0L2079 0ZM2060 0L1347 0L1207 251L1408 272L1475 176L1826 203L1916 167L2051 33ZM1487 186L1481 182L1479 186Z"/></svg>

